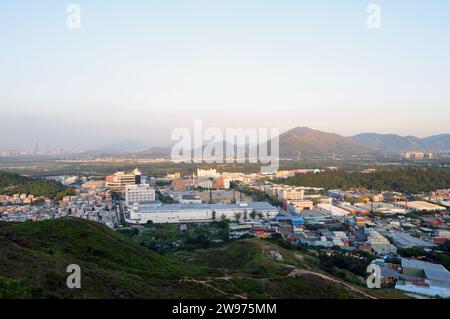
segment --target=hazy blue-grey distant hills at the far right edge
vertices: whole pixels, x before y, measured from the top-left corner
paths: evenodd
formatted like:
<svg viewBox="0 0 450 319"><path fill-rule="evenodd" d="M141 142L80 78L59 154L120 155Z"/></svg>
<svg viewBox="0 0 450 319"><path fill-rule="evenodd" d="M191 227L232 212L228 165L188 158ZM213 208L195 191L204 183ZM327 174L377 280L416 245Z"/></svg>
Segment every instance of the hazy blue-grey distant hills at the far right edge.
<svg viewBox="0 0 450 319"><path fill-rule="evenodd" d="M450 134L435 135L421 139L415 136L400 136L396 134L362 133L352 136L351 139L360 144L395 153L408 151L450 151Z"/></svg>

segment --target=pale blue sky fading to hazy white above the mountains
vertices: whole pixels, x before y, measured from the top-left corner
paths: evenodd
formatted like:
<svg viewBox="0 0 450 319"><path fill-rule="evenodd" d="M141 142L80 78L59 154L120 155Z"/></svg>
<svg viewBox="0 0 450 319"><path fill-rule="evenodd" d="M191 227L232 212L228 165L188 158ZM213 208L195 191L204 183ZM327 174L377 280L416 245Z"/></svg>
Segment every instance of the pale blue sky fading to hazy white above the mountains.
<svg viewBox="0 0 450 319"><path fill-rule="evenodd" d="M167 145L194 120L450 133L449 56L447 0L1 1L0 149Z"/></svg>

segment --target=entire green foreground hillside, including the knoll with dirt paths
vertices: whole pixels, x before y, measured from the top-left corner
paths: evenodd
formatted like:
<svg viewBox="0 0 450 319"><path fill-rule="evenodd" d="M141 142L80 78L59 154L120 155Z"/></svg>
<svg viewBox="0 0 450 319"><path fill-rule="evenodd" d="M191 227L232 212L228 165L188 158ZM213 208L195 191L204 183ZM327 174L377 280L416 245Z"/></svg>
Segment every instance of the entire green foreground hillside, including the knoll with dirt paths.
<svg viewBox="0 0 450 319"><path fill-rule="evenodd" d="M0 298L369 298L314 257L256 240L162 256L75 218L0 224ZM81 267L82 289L66 288Z"/></svg>

